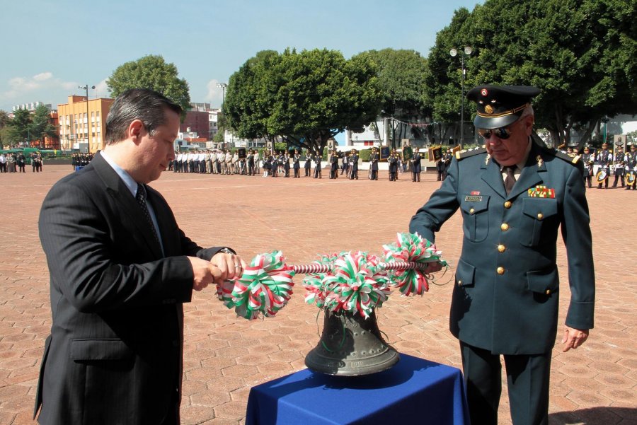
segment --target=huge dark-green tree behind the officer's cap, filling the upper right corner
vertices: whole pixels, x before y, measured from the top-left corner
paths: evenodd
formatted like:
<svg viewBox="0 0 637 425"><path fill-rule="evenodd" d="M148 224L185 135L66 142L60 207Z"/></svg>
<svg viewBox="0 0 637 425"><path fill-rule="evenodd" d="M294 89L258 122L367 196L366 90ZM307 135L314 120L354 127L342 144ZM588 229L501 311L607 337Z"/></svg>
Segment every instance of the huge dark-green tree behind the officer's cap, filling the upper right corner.
<svg viewBox="0 0 637 425"><path fill-rule="evenodd" d="M536 127L555 145L578 130L584 144L604 115L637 112L636 8L630 0L487 0L471 13L460 9L429 57L434 115L444 116L442 100L459 86L457 64L444 52L470 45L469 86L541 88Z"/></svg>

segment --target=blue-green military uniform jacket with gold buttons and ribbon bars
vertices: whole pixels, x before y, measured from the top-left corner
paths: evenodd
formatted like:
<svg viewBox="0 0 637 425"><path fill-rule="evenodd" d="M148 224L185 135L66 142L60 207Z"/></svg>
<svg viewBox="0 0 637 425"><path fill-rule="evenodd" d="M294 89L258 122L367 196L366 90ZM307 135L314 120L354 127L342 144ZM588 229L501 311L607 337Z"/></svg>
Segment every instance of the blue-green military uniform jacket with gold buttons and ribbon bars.
<svg viewBox="0 0 637 425"><path fill-rule="evenodd" d="M566 325L593 327L595 274L581 168L566 154L533 144L510 194L485 149L454 158L447 179L418 210L410 231L435 240L457 209L464 239L456 269L450 329L494 354L541 354L555 344L558 228L568 252ZM576 160L575 160L576 161ZM554 197L532 197L544 185Z"/></svg>

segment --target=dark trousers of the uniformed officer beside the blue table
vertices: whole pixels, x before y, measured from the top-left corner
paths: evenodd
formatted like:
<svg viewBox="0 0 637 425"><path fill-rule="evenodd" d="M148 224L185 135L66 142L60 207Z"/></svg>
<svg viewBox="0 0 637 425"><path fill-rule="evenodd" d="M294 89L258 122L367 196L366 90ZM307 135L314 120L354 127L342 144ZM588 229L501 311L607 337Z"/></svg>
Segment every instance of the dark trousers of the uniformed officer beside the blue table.
<svg viewBox="0 0 637 425"><path fill-rule="evenodd" d="M500 356L460 342L471 424L497 425L502 392ZM505 355L513 425L549 424L551 351L538 355Z"/></svg>

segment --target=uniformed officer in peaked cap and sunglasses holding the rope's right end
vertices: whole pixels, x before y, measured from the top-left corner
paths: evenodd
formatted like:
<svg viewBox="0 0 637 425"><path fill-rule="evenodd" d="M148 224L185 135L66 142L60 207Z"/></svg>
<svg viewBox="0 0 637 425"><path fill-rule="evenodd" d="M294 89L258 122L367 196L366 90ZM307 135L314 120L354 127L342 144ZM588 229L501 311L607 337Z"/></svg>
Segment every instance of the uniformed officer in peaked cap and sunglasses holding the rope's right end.
<svg viewBox="0 0 637 425"><path fill-rule="evenodd" d="M578 158L534 139L528 86L478 86L474 124L486 146L457 152L410 231L435 240L458 209L464 240L449 327L460 341L472 424L497 424L504 356L513 424L548 424L558 318L558 228L568 254L563 351L593 327L590 217Z"/></svg>

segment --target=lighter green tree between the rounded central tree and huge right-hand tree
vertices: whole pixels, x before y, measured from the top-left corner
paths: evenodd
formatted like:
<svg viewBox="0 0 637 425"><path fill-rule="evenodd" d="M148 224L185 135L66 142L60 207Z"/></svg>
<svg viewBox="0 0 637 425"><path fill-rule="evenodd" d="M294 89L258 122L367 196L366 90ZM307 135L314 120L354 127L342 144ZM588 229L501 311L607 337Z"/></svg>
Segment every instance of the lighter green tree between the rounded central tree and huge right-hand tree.
<svg viewBox="0 0 637 425"><path fill-rule="evenodd" d="M378 67L379 90L382 95L381 110L397 120L424 121L430 115L430 107L424 102L426 89L427 59L415 50L369 50L358 54L366 57ZM410 127L394 120L394 139L402 139ZM411 127L411 131L416 131ZM422 137L420 134L415 136Z"/></svg>

